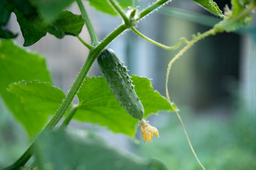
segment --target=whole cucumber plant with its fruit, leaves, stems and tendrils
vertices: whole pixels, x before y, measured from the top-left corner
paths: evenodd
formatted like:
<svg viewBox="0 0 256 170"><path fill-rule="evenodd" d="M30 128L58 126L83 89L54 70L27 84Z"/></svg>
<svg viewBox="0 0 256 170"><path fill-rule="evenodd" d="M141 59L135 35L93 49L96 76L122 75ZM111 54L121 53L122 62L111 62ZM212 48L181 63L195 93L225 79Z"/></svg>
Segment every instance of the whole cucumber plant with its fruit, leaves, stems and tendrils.
<svg viewBox="0 0 256 170"><path fill-rule="evenodd" d="M196 157L196 160L198 161L198 164L201 165L202 169L205 169L203 164L196 156L196 152L193 150L185 126L183 125L183 121L181 120L181 116L178 113L178 109L173 103L171 103L170 100L168 80L171 65L179 57L181 57L181 55L183 55L183 53L186 52L186 50L188 50L194 43L198 42L198 40L206 38L209 35L215 35L217 33L223 32L232 32L238 30L239 28L247 26L252 18L250 16L250 13L256 7L256 1L231 0L232 8L225 8L225 11L223 13L214 1L193 0L199 5L206 8L206 10L218 16L221 21L205 33L197 33L193 35L192 40L186 40L186 38L181 38L176 45L171 47L167 45L162 45L159 42L147 38L146 35L143 35L135 28L136 26L138 26L138 21L140 21L142 18L149 15L150 13L156 11L157 9L161 8L161 6L164 6L165 4L170 2L169 0L158 0L154 2L154 4L149 5L144 10L140 10L139 7L134 8L134 1L131 0L87 0L89 1L89 4L95 6L97 10L112 15L118 15L123 20L123 23L115 30L113 30L110 35L107 35L107 37L101 42L97 40L97 35L81 0L76 0L76 3L80 8L81 16L64 10L66 7L70 6L73 1L75 0L63 0L61 2L57 0L3 0L0 3L0 38L2 39L0 42L1 97L3 98L4 103L6 103L6 106L9 107L10 111L14 113L14 116L26 128L28 134L35 139L35 142L31 143L31 146L28 147L26 152L24 152L24 154L22 154L21 157L19 157L16 162L14 162L14 164L6 166L3 169L21 169L21 167L24 166L26 162L28 162L33 154L36 155L36 166L38 166L39 169L54 169L54 167L55 169L63 169L63 165L58 166L58 161L50 162L48 159L49 157L58 157L55 155L58 152L55 152L55 156L51 154L51 151L55 148L46 147L44 144L51 144L55 142L56 146L60 146L58 145L59 141L63 140L56 140L54 138L55 135L45 137L47 136L45 134L47 134L48 131L56 129L56 125L58 124L60 119L63 118L65 113L67 113L67 115L65 116L62 125L60 125L60 127L58 128L59 130L63 130L64 128L66 128L72 118L77 118L78 120L82 121L84 121L85 119L90 121L91 123L99 123L100 125L105 125L109 127L114 132L122 132L125 135L132 136L134 135L134 131L131 132L131 129L134 130L134 126L138 122L137 120L134 120L139 119L144 142L146 142L146 140L149 140L149 142L151 142L152 135L156 135L157 137L159 137L159 132L156 128L149 125L149 123L142 118L149 115L150 113L154 113L160 110L174 111L177 114L178 119L180 120L183 130L185 132L186 138L188 140L188 144L190 145L191 150ZM125 12L124 8L127 7L130 8L127 12ZM48 69L46 69L45 61L42 60L41 57L38 57L38 55L32 55L31 53L22 50L20 47L17 47L17 45L9 40L4 40L16 38L17 36L16 33L12 33L11 30L6 29L6 25L9 21L11 13L14 13L16 15L18 24L21 28L21 33L24 38L23 46L25 47L33 45L43 36L45 36L46 33L50 33L56 38L63 38L65 35L73 35L77 37L78 40L80 40L80 42L82 42L82 44L90 50L85 64L80 70L77 79L75 79L73 86L71 87L70 91L68 91L68 94L66 96L63 91L52 86ZM79 36L84 23L90 35L91 44L87 43L85 40L82 40L82 38L80 38ZM107 47L110 42L112 42L121 33L128 29L131 29L140 37L154 43L155 45L159 45L166 50L176 49L183 45L183 43L185 43L184 47L169 62L167 68L167 100L166 98L162 97L157 92L151 89L150 82L148 80L142 78L138 79L135 77L134 79L136 79L137 86L140 86L141 84L147 85L143 85L144 87L140 88L145 89L145 91L137 91L137 86L135 86L134 89L134 86L132 85L132 80L127 74L127 68L124 67L124 64L119 61L118 57L114 54L114 52ZM17 55L20 56L20 58L15 58L15 56ZM86 77L87 72L89 72L92 64L95 62L96 59L100 65L101 72L107 80L107 84L110 86L112 92L109 91L109 88L105 88L106 82L102 81L100 77L92 79ZM28 70L27 66L29 66L31 69ZM105 90L100 92L90 91L90 89L93 89L92 87L94 86L100 86L102 89ZM8 91L6 89L8 89ZM87 91L88 89L89 91ZM151 93L151 97L156 100L153 107L154 109L151 110L145 107L146 104L150 102L146 101L146 99L142 99L144 98L144 96L146 96L143 95L143 93L149 92ZM112 93L117 98L117 100L114 98ZM55 95L53 96L51 94ZM76 94L78 94L78 98L80 100L80 103L78 103L78 105L74 105L72 103L73 98ZM104 98L105 96L102 96L102 94L107 96L108 99L103 100L102 98ZM139 94L141 96L139 96ZM51 99L50 102L49 98ZM102 99L103 101L100 101L100 99ZM97 103L96 106L94 106L93 103L95 103L96 101L98 103L104 103L103 106L105 106L105 108L100 108ZM164 103L164 105L157 106L157 101ZM87 105L88 103L90 103L89 106ZM132 116L132 119L130 119L130 116L127 117L127 114L120 114L119 116L116 116L114 114L111 115L111 111L115 113L124 112L122 110L123 108L121 108L119 105L121 105L125 109L125 111L127 111L127 113ZM114 106L114 108L110 108L110 106ZM107 114L105 114L105 110L107 109L110 111L107 111ZM87 111L88 115L79 114L82 113L82 111L85 112L85 110ZM54 112L55 114L47 123L48 116L50 114L53 114ZM35 116L33 115L35 113L38 114ZM107 116L110 117L106 118ZM30 120L29 118L32 119ZM108 120L112 120L113 122L115 122L107 122ZM114 126L114 124L118 123L120 125ZM128 125L132 128L126 128L126 126L128 127ZM128 130L124 131L124 129ZM57 134L59 137L62 137L61 139L65 139L64 141L68 141L65 142L65 145L70 146L71 140L67 140L69 139L69 135L63 135L62 132ZM35 138L35 135L37 135L38 137ZM50 142L40 142L45 141L46 138L49 138ZM70 136L70 138L73 137ZM91 137L90 135L87 135L84 145L81 145L81 141L78 143L73 141L71 143L73 143L74 145L78 144L78 146L81 147L88 147L93 149L98 146L102 146L97 137ZM95 147L95 144L99 145ZM45 152L46 148L48 148L48 152ZM74 152L75 154L67 154L70 154L71 157L75 157L75 155L78 155L78 148L74 149L76 150L76 152ZM159 162L149 161L138 163L133 159L124 157L124 155L122 154L110 151L108 147L101 147L100 149L96 150L101 150L102 153L103 151L105 151L107 153L111 153L111 155L113 155L114 157L122 158L122 162L124 163L122 164L122 167L120 164L115 164L113 159L108 160L108 162L113 162L112 165L108 164L110 169L117 169L117 165L119 169L165 169L165 167ZM95 150L92 152L95 153ZM92 155L92 157L98 158L96 156L97 154ZM88 157L89 161L87 162L87 164L78 164L79 162L72 162L68 164L70 160L67 159L67 162L64 163L67 163L68 165L64 167L69 167L69 169L70 167L71 169L88 169L88 167L91 167L89 166L91 165L89 158L90 157ZM80 158L77 158L75 160L78 159ZM129 164L127 164L127 162L129 162ZM33 164L33 166L34 165L35 164Z"/></svg>

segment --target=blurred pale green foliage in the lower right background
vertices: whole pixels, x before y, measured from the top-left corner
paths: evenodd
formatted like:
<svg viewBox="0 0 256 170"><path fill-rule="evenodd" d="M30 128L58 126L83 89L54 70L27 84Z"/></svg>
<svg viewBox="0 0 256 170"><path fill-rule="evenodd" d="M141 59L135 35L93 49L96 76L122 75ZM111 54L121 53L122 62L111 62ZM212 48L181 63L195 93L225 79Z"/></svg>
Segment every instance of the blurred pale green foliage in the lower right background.
<svg viewBox="0 0 256 170"><path fill-rule="evenodd" d="M183 109L181 109L183 111ZM206 169L256 169L256 139L244 111L228 118L216 115L183 114L192 145ZM193 157L176 115L164 114L159 139L139 145L141 157L161 160L168 169L201 169Z"/></svg>

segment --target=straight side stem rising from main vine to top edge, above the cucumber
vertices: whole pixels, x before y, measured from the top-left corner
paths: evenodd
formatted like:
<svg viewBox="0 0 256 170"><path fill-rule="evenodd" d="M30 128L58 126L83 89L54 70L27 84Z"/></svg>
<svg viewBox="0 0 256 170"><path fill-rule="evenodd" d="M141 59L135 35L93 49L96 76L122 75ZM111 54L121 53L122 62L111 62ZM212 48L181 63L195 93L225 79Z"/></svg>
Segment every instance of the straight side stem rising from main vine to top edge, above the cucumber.
<svg viewBox="0 0 256 170"><path fill-rule="evenodd" d="M82 5L82 1L81 0L76 0L78 3L78 7L80 8L80 11L82 13L82 18L84 18L85 20L85 25L87 27L87 30L89 32L91 41L92 41L92 46L95 46L97 44L99 44L99 42L97 41L97 35L95 33L95 30L92 26L92 23L90 21L89 16L87 15L87 12L85 11L85 6Z"/></svg>

